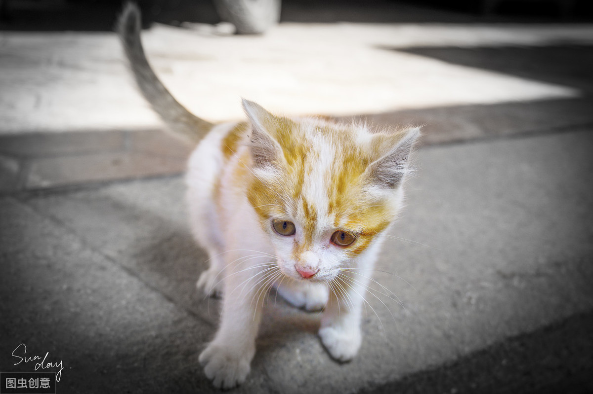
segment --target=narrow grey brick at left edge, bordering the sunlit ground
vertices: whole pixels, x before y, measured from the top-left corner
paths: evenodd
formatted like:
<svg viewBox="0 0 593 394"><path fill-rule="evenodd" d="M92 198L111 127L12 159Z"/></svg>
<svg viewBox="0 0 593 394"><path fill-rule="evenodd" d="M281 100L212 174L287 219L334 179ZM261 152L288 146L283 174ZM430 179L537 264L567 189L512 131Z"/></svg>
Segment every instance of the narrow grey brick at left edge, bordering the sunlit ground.
<svg viewBox="0 0 593 394"><path fill-rule="evenodd" d="M0 153L24 157L119 151L125 148L123 131L89 131L0 135Z"/></svg>

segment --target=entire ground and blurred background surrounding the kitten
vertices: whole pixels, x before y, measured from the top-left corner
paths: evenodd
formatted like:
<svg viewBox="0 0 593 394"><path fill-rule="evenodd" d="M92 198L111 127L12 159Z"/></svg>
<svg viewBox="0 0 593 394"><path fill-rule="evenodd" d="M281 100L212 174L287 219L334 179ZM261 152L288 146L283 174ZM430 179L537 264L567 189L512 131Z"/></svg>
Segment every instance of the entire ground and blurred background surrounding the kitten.
<svg viewBox="0 0 593 394"><path fill-rule="evenodd" d="M243 119L244 97L423 126L359 357L331 361L319 316L272 293L240 392L593 392L593 2L139 4L149 62L199 117ZM121 7L0 0L0 372L33 369L25 343L63 360L59 392L214 392L193 147L127 73Z"/></svg>

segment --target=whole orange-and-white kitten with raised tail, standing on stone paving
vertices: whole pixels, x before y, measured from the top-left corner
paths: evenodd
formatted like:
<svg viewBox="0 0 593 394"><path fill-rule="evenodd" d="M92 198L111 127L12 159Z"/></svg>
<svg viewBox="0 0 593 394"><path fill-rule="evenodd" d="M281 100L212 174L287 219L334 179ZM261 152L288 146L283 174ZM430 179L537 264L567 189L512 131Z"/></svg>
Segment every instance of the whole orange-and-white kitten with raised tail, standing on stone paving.
<svg viewBox="0 0 593 394"><path fill-rule="evenodd" d="M270 287L294 306L324 308L321 341L340 361L361 345L363 296L385 232L400 211L418 128L272 115L243 100L248 121L212 125L164 88L127 4L119 34L138 86L178 135L199 144L189 159L187 204L210 267L197 286L222 293L221 324L200 354L216 387L246 379Z"/></svg>

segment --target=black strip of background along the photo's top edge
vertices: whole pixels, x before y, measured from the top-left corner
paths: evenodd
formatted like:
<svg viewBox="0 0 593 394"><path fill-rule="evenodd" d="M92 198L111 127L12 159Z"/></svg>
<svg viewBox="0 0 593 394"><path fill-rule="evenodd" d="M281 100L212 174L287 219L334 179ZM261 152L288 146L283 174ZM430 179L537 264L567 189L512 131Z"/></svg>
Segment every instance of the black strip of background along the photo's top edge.
<svg viewBox="0 0 593 394"><path fill-rule="evenodd" d="M111 31L117 0L3 0L5 30ZM219 2L224 3L224 2ZM261 2L272 4L272 1ZM141 0L144 24L216 24L215 1ZM593 18L588 0L284 0L282 22L583 22Z"/></svg>

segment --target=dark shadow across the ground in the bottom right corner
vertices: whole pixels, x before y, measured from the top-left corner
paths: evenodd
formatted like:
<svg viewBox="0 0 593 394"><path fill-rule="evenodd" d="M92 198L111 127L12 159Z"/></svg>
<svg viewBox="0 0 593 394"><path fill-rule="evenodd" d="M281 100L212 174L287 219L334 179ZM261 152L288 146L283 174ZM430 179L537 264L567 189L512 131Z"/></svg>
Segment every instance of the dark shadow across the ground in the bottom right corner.
<svg viewBox="0 0 593 394"><path fill-rule="evenodd" d="M593 327L593 311L366 393L591 393L593 333L589 327Z"/></svg>

